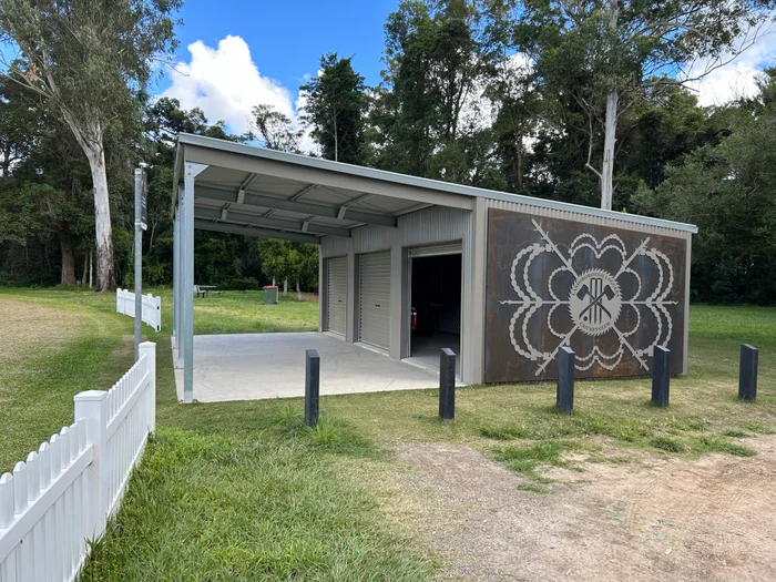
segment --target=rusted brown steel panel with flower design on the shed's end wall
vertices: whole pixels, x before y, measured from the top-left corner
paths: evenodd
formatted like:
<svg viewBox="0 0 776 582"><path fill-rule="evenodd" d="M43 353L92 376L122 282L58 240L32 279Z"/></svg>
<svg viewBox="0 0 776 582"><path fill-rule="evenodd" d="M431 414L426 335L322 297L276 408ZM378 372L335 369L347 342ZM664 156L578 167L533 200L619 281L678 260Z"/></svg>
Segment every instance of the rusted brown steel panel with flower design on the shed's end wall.
<svg viewBox="0 0 776 582"><path fill-rule="evenodd" d="M686 242L490 208L486 382L647 376L655 346L682 372Z"/></svg>

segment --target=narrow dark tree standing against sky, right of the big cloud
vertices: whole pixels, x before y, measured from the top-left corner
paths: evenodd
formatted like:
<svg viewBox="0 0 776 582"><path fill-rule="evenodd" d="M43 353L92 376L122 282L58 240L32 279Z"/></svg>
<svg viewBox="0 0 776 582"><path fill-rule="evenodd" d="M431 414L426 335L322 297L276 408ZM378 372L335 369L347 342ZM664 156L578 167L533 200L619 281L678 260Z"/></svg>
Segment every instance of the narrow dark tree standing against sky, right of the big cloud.
<svg viewBox="0 0 776 582"><path fill-rule="evenodd" d="M324 157L364 165L367 86L351 60L336 52L320 57L320 74L299 86L307 96L302 119Z"/></svg>

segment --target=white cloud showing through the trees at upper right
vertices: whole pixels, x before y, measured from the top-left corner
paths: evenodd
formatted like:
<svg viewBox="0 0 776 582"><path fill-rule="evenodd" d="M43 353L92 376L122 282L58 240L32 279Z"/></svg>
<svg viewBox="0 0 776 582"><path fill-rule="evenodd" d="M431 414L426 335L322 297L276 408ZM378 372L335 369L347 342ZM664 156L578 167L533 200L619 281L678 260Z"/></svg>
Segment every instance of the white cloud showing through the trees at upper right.
<svg viewBox="0 0 776 582"><path fill-rule="evenodd" d="M701 81L687 83L696 91L698 103L703 106L723 105L739 98L751 98L757 93L755 79L764 68L773 65L776 60L776 34L768 33L738 55L734 61L712 71ZM703 71L708 63L696 63L694 70ZM690 72L692 75L693 72Z"/></svg>

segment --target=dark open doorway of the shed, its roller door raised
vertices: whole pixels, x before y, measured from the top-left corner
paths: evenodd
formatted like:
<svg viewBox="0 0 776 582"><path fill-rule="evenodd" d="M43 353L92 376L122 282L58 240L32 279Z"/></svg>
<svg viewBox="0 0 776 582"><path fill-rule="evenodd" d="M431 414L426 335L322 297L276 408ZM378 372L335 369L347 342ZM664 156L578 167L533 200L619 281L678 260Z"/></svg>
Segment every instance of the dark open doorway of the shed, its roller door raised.
<svg viewBox="0 0 776 582"><path fill-rule="evenodd" d="M456 353L461 374L461 255L412 257L409 359L439 369L439 351ZM413 325L412 325L413 321Z"/></svg>

